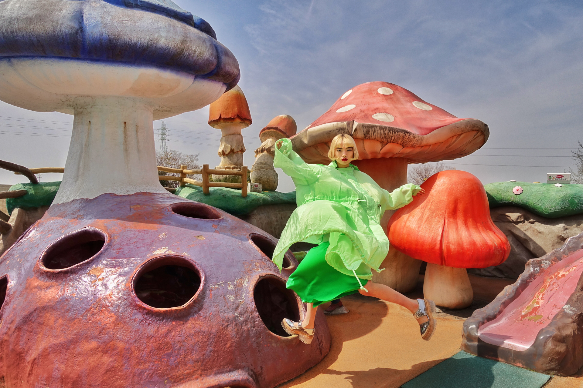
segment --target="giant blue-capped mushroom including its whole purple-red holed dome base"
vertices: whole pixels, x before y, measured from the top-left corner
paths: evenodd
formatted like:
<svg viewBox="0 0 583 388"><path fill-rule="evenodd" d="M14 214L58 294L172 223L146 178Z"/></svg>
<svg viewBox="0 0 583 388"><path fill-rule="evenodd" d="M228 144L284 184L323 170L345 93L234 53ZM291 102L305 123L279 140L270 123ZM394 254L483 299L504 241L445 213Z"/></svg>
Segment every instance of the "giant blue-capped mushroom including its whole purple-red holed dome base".
<svg viewBox="0 0 583 388"><path fill-rule="evenodd" d="M280 273L273 237L157 178L152 120L239 76L169 0L0 0L0 99L75 115L55 201L0 257L4 385L273 387L328 353L323 315L310 346L280 327L291 252Z"/></svg>

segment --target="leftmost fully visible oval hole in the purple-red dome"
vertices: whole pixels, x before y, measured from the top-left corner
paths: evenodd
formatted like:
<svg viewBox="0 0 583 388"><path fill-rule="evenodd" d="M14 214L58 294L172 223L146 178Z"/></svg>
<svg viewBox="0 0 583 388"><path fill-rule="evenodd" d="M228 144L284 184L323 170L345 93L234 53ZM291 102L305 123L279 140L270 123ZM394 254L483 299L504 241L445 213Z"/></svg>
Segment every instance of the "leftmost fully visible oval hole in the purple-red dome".
<svg viewBox="0 0 583 388"><path fill-rule="evenodd" d="M47 269L65 269L89 260L103 248L106 234L88 227L66 234L52 243L41 256Z"/></svg>

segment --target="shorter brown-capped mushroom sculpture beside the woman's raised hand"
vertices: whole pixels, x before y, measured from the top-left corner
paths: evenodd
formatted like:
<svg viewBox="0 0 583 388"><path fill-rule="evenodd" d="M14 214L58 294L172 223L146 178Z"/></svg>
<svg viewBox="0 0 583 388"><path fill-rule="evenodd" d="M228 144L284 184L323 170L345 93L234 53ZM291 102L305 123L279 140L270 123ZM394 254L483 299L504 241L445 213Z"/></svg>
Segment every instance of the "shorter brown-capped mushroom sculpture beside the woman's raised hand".
<svg viewBox="0 0 583 388"><path fill-rule="evenodd" d="M275 142L296 134L296 120L289 115L275 116L259 132L259 139L263 142L255 149L255 163L251 168L251 182L261 183L263 190L275 191L278 188L278 173L273 168L275 156Z"/></svg>

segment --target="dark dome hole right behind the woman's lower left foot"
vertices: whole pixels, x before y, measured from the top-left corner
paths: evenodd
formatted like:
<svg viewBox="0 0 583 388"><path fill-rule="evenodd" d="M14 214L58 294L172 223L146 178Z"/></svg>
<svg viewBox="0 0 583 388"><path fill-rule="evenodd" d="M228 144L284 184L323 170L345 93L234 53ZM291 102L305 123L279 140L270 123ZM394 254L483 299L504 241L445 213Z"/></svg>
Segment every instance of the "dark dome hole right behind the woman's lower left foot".
<svg viewBox="0 0 583 388"><path fill-rule="evenodd" d="M278 336L289 337L282 328L282 320L299 321L300 310L295 294L286 288L286 283L277 277L264 277L255 285L253 298L266 328Z"/></svg>

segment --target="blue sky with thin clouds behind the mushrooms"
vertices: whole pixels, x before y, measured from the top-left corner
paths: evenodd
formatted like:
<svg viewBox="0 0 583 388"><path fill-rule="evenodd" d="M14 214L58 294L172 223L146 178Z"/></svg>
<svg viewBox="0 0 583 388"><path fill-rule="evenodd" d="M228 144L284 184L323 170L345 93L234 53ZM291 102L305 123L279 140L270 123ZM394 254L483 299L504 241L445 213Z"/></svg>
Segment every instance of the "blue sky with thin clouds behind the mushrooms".
<svg viewBox="0 0 583 388"><path fill-rule="evenodd" d="M482 149L446 162L483 183L542 181L547 172L573 166L569 149L583 141L581 2L175 2L207 20L239 61L239 85L253 118L243 132L248 166L259 130L271 118L291 115L303 129L345 91L368 81L398 84L455 116L487 123L491 135ZM0 130L2 159L31 168L64 166L70 132L27 126L66 129L71 116L5 103L0 112L5 118L63 122L1 120L23 126ZM169 118L168 145L200 153L201 163L215 166L220 131L207 120L208 108ZM64 137L38 136L43 133ZM21 180L0 172L0 183ZM278 190L293 190L282 173Z"/></svg>

